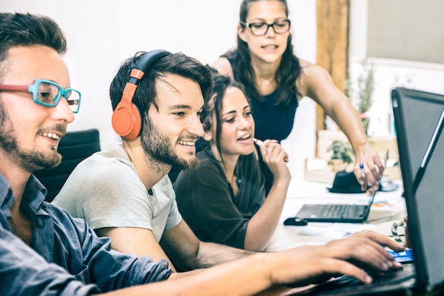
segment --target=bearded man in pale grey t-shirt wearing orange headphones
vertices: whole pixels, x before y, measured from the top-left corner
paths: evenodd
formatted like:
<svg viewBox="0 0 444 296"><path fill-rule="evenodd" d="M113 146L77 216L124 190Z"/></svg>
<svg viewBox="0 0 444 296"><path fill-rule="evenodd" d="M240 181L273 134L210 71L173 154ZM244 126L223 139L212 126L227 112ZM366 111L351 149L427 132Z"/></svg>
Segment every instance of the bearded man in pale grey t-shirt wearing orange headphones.
<svg viewBox="0 0 444 296"><path fill-rule="evenodd" d="M111 248L167 258L180 271L251 254L199 241L177 210L167 176L172 166L199 164L199 116L212 88L209 70L182 53L155 50L127 59L110 87L122 144L82 161L52 203L110 237Z"/></svg>

